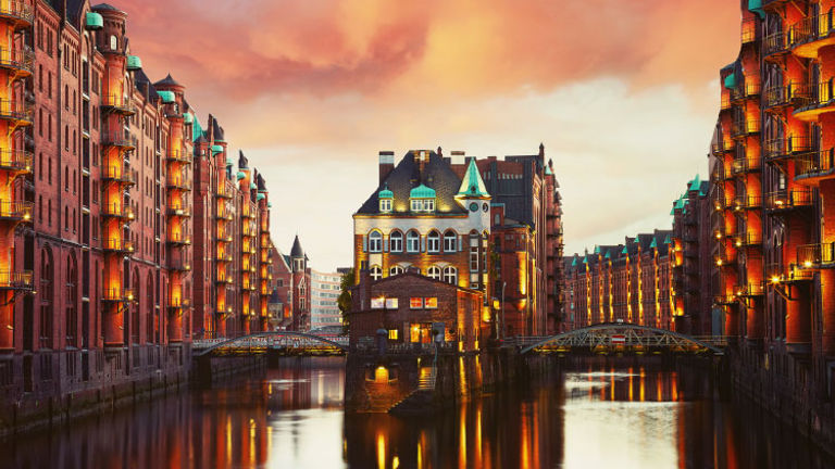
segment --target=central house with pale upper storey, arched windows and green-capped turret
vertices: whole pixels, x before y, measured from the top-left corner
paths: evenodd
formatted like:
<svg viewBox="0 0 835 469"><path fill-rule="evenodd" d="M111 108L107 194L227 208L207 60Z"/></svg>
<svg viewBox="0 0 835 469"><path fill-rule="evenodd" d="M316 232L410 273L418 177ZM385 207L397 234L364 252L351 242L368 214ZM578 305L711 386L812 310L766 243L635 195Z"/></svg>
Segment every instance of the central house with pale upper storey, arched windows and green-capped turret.
<svg viewBox="0 0 835 469"><path fill-rule="evenodd" d="M394 152L381 152L379 183L353 214L357 281L363 270L373 281L409 270L482 292L489 318L489 236L490 194L475 161L460 177L431 150L409 151L397 166Z"/></svg>

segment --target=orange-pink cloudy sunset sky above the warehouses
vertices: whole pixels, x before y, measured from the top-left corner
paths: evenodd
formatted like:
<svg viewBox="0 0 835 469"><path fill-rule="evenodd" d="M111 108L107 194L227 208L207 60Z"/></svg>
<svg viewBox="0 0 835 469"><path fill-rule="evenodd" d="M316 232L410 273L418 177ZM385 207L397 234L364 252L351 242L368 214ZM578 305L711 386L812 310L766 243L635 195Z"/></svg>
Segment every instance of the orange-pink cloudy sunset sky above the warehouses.
<svg viewBox="0 0 835 469"><path fill-rule="evenodd" d="M565 252L669 229L739 49L728 0L110 0L152 80L186 86L263 173L271 232L352 264L377 154L553 161Z"/></svg>

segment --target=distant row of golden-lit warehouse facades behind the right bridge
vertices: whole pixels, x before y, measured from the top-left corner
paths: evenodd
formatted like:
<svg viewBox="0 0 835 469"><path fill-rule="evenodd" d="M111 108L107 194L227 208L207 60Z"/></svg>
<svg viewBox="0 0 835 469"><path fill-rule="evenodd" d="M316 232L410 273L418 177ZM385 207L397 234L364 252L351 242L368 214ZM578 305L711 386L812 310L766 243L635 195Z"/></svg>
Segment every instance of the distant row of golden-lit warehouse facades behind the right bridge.
<svg viewBox="0 0 835 469"><path fill-rule="evenodd" d="M564 310L572 328L624 321L674 330L672 231L656 230L564 258Z"/></svg>

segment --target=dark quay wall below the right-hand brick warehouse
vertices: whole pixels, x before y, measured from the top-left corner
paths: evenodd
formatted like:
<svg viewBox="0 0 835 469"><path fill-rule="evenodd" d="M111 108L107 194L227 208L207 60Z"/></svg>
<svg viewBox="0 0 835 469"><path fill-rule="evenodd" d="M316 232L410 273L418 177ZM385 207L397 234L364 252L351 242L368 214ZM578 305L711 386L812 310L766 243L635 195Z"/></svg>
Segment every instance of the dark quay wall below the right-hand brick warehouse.
<svg viewBox="0 0 835 469"><path fill-rule="evenodd" d="M735 401L752 401L827 453L835 455L835 383L815 379L814 367L780 359L756 347L725 351ZM826 376L821 367L820 373Z"/></svg>

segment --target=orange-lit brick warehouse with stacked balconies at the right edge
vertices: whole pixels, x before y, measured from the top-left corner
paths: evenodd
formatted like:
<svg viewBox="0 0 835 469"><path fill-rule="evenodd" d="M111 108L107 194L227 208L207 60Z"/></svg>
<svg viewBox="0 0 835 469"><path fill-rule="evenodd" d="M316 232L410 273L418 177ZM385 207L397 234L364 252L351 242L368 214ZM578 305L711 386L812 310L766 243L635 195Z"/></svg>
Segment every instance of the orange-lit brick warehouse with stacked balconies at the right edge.
<svg viewBox="0 0 835 469"><path fill-rule="evenodd" d="M785 408L831 405L835 369L833 8L741 1L739 54L720 71L715 306Z"/></svg>

